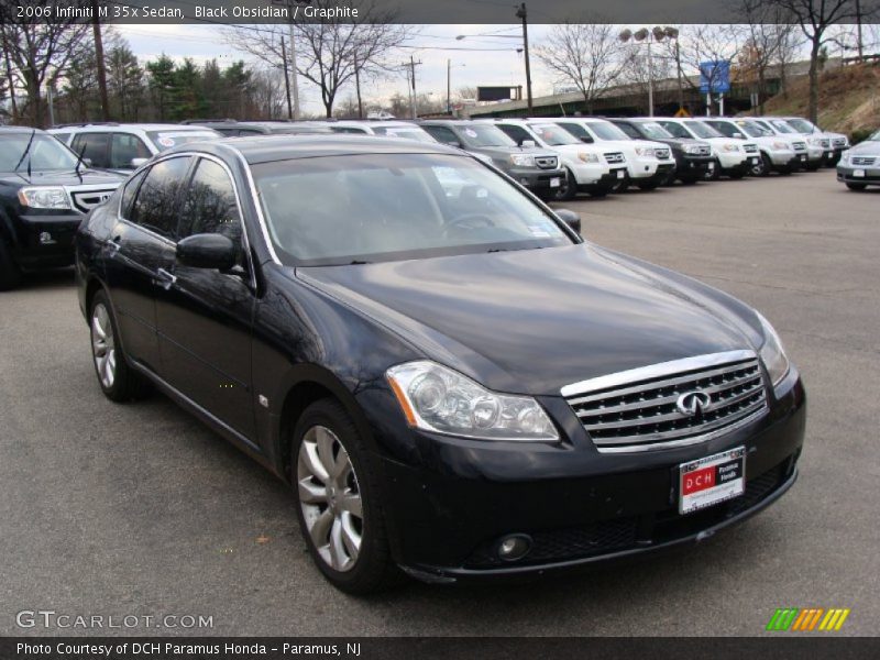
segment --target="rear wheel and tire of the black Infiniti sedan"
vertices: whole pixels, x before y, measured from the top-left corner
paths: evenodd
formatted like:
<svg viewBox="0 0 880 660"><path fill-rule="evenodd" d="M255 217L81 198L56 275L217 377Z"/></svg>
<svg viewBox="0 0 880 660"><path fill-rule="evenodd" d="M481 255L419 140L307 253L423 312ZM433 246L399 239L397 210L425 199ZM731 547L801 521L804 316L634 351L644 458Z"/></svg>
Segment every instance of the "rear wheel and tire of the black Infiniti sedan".
<svg viewBox="0 0 880 660"><path fill-rule="evenodd" d="M95 374L105 396L116 403L143 398L150 391L150 384L125 360L116 316L103 290L91 299L89 329Z"/></svg>

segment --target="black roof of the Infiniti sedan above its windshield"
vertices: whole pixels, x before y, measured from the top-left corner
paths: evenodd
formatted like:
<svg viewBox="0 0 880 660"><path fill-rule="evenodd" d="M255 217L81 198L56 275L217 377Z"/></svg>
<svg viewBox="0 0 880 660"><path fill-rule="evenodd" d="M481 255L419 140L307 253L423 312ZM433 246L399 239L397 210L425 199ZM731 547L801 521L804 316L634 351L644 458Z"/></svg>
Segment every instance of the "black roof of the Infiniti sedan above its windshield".
<svg viewBox="0 0 880 660"><path fill-rule="evenodd" d="M377 138L376 135L352 135L350 133L224 138L180 145L164 152L163 155L195 151L223 156L229 154L230 148L240 153L251 165L273 161L360 154L450 154L468 157L461 150L439 143Z"/></svg>

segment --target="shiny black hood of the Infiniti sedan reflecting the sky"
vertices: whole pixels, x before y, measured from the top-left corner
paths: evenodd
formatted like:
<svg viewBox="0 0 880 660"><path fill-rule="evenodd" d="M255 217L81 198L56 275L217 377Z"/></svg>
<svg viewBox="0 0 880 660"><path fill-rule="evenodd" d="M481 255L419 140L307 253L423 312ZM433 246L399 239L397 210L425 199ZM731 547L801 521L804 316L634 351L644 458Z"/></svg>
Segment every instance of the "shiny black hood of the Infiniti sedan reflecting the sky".
<svg viewBox="0 0 880 660"><path fill-rule="evenodd" d="M296 276L499 392L559 395L585 378L760 341L741 302L587 244Z"/></svg>

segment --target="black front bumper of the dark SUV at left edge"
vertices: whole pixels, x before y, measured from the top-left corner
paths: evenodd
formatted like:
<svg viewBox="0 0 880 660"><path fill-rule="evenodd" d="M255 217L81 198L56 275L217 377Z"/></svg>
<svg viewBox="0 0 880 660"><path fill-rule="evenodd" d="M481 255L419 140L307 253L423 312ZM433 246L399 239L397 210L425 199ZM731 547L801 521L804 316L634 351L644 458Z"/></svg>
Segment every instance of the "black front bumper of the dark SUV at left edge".
<svg viewBox="0 0 880 660"><path fill-rule="evenodd" d="M79 213L19 216L15 262L26 271L69 266L74 263L74 235L82 218Z"/></svg>

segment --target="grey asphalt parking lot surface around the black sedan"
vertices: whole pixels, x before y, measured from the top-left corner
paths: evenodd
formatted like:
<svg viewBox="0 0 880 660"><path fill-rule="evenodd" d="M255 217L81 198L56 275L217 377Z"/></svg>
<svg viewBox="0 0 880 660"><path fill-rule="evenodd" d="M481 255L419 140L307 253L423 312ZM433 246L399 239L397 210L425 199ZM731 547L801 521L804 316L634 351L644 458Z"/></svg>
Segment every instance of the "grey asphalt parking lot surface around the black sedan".
<svg viewBox="0 0 880 660"><path fill-rule="evenodd" d="M359 600L312 566L286 488L162 396L106 400L69 271L0 294L0 635L760 635L777 607L880 620L880 189L833 170L564 205L597 243L774 323L809 395L801 479L685 552L526 586ZM20 610L202 615L202 630L24 630ZM777 634L779 635L779 634Z"/></svg>

